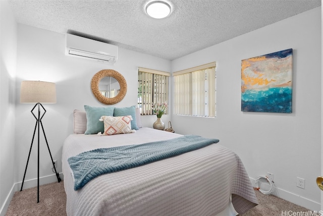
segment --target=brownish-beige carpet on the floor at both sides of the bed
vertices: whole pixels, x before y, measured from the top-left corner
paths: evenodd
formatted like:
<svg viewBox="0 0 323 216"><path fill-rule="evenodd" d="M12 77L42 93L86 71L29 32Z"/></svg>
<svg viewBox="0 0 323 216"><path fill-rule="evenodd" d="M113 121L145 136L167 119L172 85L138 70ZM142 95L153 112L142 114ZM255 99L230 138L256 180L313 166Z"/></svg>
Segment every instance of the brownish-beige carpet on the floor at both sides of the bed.
<svg viewBox="0 0 323 216"><path fill-rule="evenodd" d="M308 209L291 202L275 197L273 195L264 195L256 190L259 205L250 209L241 216L259 216L259 215L296 215L288 214L293 212L309 212ZM282 214L282 211L286 214ZM39 187L39 203L37 203L37 187L17 191L10 202L6 216L11 215L45 215L61 216L66 215L66 194L63 181L60 183L50 183ZM314 215L314 214L297 214Z"/></svg>

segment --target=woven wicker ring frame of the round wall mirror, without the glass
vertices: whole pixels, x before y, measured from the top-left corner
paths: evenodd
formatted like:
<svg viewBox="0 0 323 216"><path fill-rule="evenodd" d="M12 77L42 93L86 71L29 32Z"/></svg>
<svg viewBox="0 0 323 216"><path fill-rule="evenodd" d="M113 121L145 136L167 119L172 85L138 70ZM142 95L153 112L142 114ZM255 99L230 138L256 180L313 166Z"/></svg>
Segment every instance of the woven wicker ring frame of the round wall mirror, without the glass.
<svg viewBox="0 0 323 216"><path fill-rule="evenodd" d="M99 90L99 82L103 77L113 77L115 78L119 84L120 84L120 92L117 94L117 96L109 98L104 97L100 90ZM120 102L127 93L127 82L125 78L115 70L101 70L97 72L91 80L91 89L98 101L104 104L116 104Z"/></svg>

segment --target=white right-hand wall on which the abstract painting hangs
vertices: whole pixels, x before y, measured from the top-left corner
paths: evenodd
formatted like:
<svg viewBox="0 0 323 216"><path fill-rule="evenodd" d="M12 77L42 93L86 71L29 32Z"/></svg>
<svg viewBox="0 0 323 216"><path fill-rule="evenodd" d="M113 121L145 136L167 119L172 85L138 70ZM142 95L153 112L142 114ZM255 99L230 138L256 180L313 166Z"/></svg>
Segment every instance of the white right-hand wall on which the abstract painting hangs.
<svg viewBox="0 0 323 216"><path fill-rule="evenodd" d="M241 112L241 60L293 48L293 113ZM276 195L319 210L321 9L249 32L172 62L172 72L217 62L217 118L172 116L176 132L220 139L249 176L274 174ZM305 179L305 189L296 187Z"/></svg>

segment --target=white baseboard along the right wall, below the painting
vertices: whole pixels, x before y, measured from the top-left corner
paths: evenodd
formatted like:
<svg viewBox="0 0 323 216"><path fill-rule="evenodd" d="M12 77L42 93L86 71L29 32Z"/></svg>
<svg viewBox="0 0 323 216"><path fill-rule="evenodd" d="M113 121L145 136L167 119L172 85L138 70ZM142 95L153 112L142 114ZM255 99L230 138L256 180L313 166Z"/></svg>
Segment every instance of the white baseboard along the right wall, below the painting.
<svg viewBox="0 0 323 216"><path fill-rule="evenodd" d="M250 178L250 181L251 181L252 186L255 187L256 180ZM317 211L318 212L319 210L321 210L320 209L320 207L321 207L320 203L315 202L315 201L310 200L310 199L307 199L307 198L302 197L300 195L291 193L289 191L277 188L277 187L275 188L275 192L273 193L273 195L275 195L277 197L280 197L282 199L285 199L287 201L290 201L292 203L295 203L297 205L303 206L305 208L308 208L308 209L310 209L312 211Z"/></svg>

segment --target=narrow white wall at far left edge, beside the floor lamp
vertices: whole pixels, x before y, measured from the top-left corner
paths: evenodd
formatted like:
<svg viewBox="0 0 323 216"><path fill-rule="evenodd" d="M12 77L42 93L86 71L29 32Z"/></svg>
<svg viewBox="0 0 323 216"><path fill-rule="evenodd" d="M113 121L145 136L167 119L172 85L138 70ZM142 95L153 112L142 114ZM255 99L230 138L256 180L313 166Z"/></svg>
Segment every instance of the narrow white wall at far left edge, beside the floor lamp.
<svg viewBox="0 0 323 216"><path fill-rule="evenodd" d="M0 214L13 196L15 172L15 75L17 24L7 1L0 1Z"/></svg>

